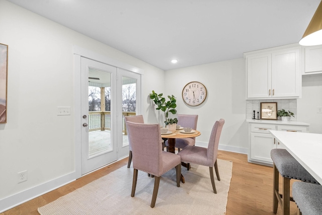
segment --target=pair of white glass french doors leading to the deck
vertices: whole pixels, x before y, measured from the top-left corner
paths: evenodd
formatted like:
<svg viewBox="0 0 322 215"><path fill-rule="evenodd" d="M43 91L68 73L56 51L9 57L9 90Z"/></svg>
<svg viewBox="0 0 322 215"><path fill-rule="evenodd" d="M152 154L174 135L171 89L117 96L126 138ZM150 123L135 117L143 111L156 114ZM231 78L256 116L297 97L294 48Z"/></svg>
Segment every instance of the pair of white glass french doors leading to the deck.
<svg viewBox="0 0 322 215"><path fill-rule="evenodd" d="M124 117L140 110L141 75L81 57L81 174L129 153Z"/></svg>

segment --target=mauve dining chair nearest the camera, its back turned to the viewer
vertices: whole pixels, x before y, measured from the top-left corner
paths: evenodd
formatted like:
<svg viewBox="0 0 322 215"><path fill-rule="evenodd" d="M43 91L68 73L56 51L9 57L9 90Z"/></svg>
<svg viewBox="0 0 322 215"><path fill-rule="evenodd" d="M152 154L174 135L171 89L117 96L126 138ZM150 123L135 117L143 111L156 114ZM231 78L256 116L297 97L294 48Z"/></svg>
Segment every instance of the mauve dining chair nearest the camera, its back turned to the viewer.
<svg viewBox="0 0 322 215"><path fill-rule="evenodd" d="M159 188L160 176L176 168L177 186L180 187L181 159L179 155L162 150L159 124L140 124L127 122L127 132L132 145L133 183L131 196L136 189L138 170L154 176L151 207L154 207Z"/></svg>

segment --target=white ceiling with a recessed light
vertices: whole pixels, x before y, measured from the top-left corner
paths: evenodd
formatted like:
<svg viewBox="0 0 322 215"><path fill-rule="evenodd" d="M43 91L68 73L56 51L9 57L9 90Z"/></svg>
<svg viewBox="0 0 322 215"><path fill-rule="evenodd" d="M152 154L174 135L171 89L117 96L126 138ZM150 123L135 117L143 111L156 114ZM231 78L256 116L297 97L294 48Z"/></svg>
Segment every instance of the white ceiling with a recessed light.
<svg viewBox="0 0 322 215"><path fill-rule="evenodd" d="M8 0L163 70L298 43L320 0ZM172 64L171 59L178 59Z"/></svg>

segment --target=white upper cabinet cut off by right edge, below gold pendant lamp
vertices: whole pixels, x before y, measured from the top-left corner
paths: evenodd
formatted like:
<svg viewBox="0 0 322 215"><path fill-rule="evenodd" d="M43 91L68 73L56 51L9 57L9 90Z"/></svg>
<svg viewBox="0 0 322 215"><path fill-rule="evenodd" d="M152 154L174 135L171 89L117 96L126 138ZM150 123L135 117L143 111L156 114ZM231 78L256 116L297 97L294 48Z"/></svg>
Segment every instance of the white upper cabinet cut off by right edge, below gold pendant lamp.
<svg viewBox="0 0 322 215"><path fill-rule="evenodd" d="M304 70L303 74L322 73L322 45L305 46L304 52Z"/></svg>

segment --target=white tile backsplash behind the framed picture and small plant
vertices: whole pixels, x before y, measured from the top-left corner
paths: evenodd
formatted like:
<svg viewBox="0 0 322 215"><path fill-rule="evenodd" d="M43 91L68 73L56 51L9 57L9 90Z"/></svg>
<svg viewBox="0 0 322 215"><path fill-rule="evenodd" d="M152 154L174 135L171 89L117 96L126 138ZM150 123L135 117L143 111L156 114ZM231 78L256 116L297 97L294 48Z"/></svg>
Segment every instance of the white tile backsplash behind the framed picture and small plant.
<svg viewBox="0 0 322 215"><path fill-rule="evenodd" d="M297 100L296 99L267 99L267 100L246 100L246 118L253 119L254 111L257 119L257 112L260 112L261 102L277 102L277 110L284 109L294 113L295 117L291 117L292 121L297 121ZM261 113L259 114L261 117ZM278 120L280 120L278 118Z"/></svg>

